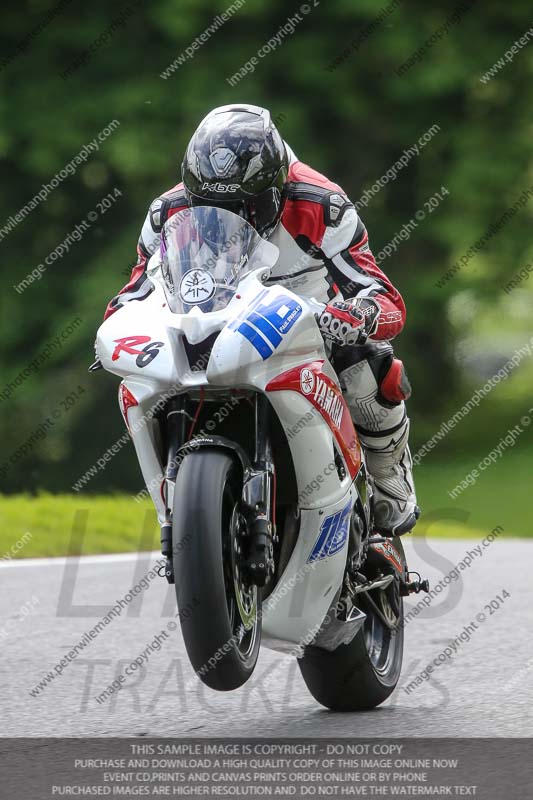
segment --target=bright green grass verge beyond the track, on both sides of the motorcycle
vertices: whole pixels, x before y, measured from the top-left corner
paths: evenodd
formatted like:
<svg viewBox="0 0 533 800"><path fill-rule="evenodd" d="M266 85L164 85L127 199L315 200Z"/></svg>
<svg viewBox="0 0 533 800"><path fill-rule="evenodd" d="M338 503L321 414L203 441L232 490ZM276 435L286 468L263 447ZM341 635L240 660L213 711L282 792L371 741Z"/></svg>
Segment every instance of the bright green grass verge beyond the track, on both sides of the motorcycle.
<svg viewBox="0 0 533 800"><path fill-rule="evenodd" d="M484 453L415 470L422 518L416 533L483 539L497 526L505 536L533 535L529 505L532 453L505 451L495 464L454 499L449 492L482 460ZM126 553L159 549L152 503L130 495L40 494L0 496L0 558Z"/></svg>

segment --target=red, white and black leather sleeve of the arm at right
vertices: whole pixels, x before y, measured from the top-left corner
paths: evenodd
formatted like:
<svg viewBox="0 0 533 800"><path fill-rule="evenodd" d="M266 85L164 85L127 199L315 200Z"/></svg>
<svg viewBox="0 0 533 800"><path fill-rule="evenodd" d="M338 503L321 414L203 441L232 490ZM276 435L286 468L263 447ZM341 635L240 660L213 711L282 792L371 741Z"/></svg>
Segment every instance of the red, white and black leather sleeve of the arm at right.
<svg viewBox="0 0 533 800"><path fill-rule="evenodd" d="M362 302L368 299L377 304L377 325L370 338L393 339L403 328L405 304L398 290L378 267L368 245L366 228L354 206L345 197L342 201L337 208L330 208L329 212L326 209L321 249L328 259L329 271L346 300L356 298ZM363 305L371 306L373 303Z"/></svg>

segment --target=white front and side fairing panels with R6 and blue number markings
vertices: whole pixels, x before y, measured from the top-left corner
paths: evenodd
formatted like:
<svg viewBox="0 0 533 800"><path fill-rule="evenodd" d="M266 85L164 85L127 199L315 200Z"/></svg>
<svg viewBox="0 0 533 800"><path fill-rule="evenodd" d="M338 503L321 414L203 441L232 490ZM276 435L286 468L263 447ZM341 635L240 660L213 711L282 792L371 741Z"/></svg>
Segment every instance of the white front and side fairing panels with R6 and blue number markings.
<svg viewBox="0 0 533 800"><path fill-rule="evenodd" d="M271 263L244 277L225 308L203 313L194 306L187 314L172 313L155 258L151 265L154 291L145 300L127 303L102 324L98 357L106 370L123 379L125 417L160 522L163 465L157 428L147 419L150 410L192 387L203 386L206 391L247 387L267 393L289 441L301 524L284 574L263 604L263 636L269 646L293 650L302 641L312 641L341 588L350 512L357 497L353 470L350 474L347 469L346 477L339 479L335 468L339 450L325 417L301 393L266 389L282 373L310 362L325 362L323 371L338 386L315 321L319 305L286 288L265 286L262 280L268 278ZM261 336L251 322L254 309L267 309L271 319L277 314L281 333L270 339ZM239 330L242 325L248 336ZM182 337L194 344L214 332L220 333L205 369L192 372ZM250 337L255 337L255 344ZM130 405L132 398L138 405Z"/></svg>

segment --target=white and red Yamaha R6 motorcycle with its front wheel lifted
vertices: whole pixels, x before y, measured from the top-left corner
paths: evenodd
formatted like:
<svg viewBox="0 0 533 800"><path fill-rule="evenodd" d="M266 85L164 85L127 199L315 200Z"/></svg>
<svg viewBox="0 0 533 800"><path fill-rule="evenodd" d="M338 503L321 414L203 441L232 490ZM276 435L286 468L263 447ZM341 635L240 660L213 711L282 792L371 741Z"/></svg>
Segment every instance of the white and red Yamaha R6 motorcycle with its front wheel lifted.
<svg viewBox="0 0 533 800"><path fill-rule="evenodd" d="M298 658L313 696L385 700L409 580L372 526L372 483L316 322L270 277L278 249L211 207L168 220L152 293L100 327L161 523L166 577L198 676L241 686L261 641Z"/></svg>

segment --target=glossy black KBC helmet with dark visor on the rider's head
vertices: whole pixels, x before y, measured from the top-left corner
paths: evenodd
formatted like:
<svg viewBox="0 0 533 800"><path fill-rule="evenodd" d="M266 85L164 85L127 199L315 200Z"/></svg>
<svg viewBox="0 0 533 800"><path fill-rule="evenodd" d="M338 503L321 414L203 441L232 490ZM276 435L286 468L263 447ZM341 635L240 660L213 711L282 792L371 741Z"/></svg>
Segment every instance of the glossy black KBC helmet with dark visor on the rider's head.
<svg viewBox="0 0 533 800"><path fill-rule="evenodd" d="M270 113L221 106L196 129L182 164L189 205L227 208L266 234L283 207L289 159Z"/></svg>

